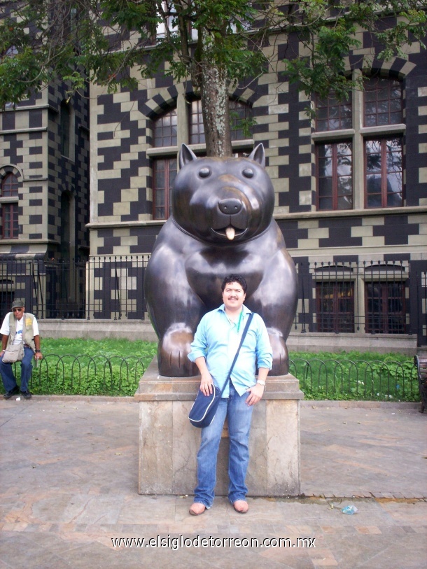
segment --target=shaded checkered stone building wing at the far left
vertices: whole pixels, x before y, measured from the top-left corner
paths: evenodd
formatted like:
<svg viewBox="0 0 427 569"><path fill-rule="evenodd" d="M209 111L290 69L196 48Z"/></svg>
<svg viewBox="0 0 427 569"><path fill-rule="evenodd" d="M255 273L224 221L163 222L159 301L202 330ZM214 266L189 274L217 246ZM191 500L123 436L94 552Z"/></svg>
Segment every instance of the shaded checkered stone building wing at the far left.
<svg viewBox="0 0 427 569"><path fill-rule="evenodd" d="M87 94L69 100L67 85L49 85L0 112L1 314L13 297L41 317L84 308L71 260L89 253Z"/></svg>

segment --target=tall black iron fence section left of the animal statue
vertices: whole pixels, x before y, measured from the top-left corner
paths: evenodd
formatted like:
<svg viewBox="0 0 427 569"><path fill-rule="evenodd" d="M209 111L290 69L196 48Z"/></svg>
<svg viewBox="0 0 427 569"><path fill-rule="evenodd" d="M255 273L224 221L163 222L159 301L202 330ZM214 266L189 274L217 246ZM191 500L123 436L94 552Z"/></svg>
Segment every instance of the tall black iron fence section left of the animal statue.
<svg viewBox="0 0 427 569"><path fill-rule="evenodd" d="M1 260L0 309L14 298L42 318L144 320L144 272L149 255L88 260Z"/></svg>

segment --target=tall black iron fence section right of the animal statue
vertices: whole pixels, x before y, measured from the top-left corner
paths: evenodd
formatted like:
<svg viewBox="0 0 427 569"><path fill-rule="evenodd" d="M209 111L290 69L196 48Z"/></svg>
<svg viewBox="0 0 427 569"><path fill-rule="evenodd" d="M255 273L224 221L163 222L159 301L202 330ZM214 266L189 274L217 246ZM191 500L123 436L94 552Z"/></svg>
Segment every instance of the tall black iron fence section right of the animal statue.
<svg viewBox="0 0 427 569"><path fill-rule="evenodd" d="M412 334L427 344L427 262L297 262L295 330Z"/></svg>

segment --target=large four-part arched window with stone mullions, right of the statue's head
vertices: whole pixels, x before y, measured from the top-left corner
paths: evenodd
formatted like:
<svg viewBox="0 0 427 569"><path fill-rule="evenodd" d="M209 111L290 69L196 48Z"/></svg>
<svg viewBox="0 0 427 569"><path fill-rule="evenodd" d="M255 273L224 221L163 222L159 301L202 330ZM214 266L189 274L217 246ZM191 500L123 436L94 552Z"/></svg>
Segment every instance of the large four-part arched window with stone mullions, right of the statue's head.
<svg viewBox="0 0 427 569"><path fill-rule="evenodd" d="M404 205L402 82L377 74L363 87L345 101L316 99L319 211Z"/></svg>

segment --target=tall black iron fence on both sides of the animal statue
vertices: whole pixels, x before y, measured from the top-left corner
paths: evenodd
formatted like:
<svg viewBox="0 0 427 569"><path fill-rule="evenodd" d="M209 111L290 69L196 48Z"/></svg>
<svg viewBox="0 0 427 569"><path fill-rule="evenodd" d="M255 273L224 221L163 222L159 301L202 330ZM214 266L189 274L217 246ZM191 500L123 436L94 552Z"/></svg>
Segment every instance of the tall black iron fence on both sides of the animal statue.
<svg viewBox="0 0 427 569"><path fill-rule="evenodd" d="M144 320L149 255L1 260L0 309L25 300L38 318ZM296 260L295 330L412 334L427 344L427 261Z"/></svg>

